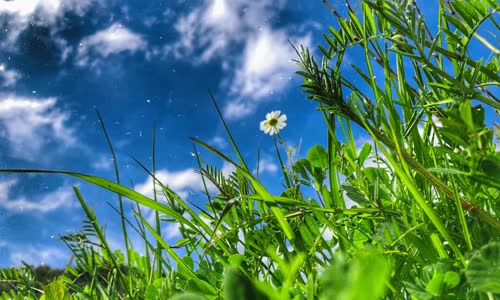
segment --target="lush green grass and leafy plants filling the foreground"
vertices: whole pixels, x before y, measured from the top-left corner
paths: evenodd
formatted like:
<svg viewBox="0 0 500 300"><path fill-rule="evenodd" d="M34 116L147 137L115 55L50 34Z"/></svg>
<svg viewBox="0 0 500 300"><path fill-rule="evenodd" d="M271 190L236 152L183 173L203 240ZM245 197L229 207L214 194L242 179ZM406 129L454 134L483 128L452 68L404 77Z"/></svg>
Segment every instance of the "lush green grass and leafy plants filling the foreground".
<svg viewBox="0 0 500 300"><path fill-rule="evenodd" d="M210 94L235 160L192 138L198 172L218 192L204 206L187 203L155 177L154 196L119 181L54 170L119 195L125 252L111 249L79 190L87 216L78 234L62 236L75 262L43 290L2 271L13 289L4 298L45 299L494 299L500 294L500 152L495 96L498 49L481 26L499 29L495 1L440 1L438 28L429 28L413 1L357 1L324 34L318 60L298 47L297 73L307 99L327 124L318 144L292 159L273 136L284 188L271 194L247 167ZM437 5L437 4L436 4ZM472 40L492 53L474 60ZM364 61L346 59L364 53ZM356 80L342 76L355 71ZM377 77L378 76L378 77ZM361 83L361 84L360 84ZM110 151L113 147L99 115ZM435 122L433 120L439 120ZM293 120L289 120L293 122ZM360 131L353 131L357 126ZM372 143L358 145L361 136ZM286 136L285 136L286 137ZM229 176L198 148L235 167ZM139 164L140 162L137 161ZM136 205L133 218L123 198ZM352 204L354 203L354 205ZM155 211L149 224L143 208ZM161 236L177 222L182 238ZM145 253L130 243L143 239ZM177 252L182 249L184 256ZM78 285L78 278L88 278ZM29 277L29 276L28 276ZM22 279L25 278L25 279ZM10 293L10 294L9 294ZM53 297L53 298L51 298ZM64 298L66 297L66 298Z"/></svg>

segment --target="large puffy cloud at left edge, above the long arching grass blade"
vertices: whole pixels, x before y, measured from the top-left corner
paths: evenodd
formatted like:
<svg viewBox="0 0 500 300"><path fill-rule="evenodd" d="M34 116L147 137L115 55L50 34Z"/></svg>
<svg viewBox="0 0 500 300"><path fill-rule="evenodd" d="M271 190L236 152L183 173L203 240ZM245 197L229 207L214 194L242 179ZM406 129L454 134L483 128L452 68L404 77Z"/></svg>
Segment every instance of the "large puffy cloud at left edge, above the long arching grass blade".
<svg viewBox="0 0 500 300"><path fill-rule="evenodd" d="M56 98L0 95L0 138L6 139L10 156L28 161L46 159L49 143L74 146L74 130L66 126L70 115L56 107Z"/></svg>

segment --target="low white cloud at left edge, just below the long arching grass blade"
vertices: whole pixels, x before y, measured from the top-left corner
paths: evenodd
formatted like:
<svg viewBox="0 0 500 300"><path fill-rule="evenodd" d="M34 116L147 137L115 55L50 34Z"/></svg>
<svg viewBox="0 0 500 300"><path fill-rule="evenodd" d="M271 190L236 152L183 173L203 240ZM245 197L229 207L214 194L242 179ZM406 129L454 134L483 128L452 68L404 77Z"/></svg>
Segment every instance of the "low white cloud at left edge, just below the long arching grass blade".
<svg viewBox="0 0 500 300"><path fill-rule="evenodd" d="M0 207L10 213L48 213L61 208L76 206L73 189L64 185L55 191L49 192L36 199L28 199L25 196L10 198L10 191L18 184L17 179L0 181Z"/></svg>

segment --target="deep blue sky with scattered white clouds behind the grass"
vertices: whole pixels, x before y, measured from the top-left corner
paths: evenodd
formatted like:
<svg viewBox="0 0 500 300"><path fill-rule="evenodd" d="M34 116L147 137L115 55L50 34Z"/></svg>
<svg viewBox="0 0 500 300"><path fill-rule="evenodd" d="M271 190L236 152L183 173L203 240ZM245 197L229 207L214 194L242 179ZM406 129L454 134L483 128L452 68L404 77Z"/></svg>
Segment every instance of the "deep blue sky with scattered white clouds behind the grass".
<svg viewBox="0 0 500 300"><path fill-rule="evenodd" d="M345 13L343 1L330 3ZM302 155L326 142L322 116L301 92L290 45L324 44L323 32L337 22L321 0L0 0L0 24L0 168L114 180L98 110L122 183L151 195L151 178L134 158L151 166L156 124L158 178L203 204L189 137L234 157L209 90L254 169L260 148L259 178L274 193L283 180L273 140L259 131L266 113L287 115L282 136L287 145L301 144ZM118 206L116 195L62 175L0 174L0 267L68 262L59 235L79 231L84 218L73 186L106 225L111 247L123 248L120 220L109 207ZM169 243L180 238L175 226L164 236Z"/></svg>

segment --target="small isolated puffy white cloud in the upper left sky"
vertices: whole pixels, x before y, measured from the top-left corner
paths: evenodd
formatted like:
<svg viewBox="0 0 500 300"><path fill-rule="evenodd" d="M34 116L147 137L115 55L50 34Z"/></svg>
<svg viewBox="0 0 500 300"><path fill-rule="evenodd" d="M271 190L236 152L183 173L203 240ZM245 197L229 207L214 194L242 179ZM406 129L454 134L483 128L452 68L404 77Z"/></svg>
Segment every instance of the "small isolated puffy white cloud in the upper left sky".
<svg viewBox="0 0 500 300"><path fill-rule="evenodd" d="M81 40L78 47L77 64L95 67L99 63L99 59L122 52L135 53L145 48L146 42L141 35L130 31L119 23L114 23L110 27Z"/></svg>

